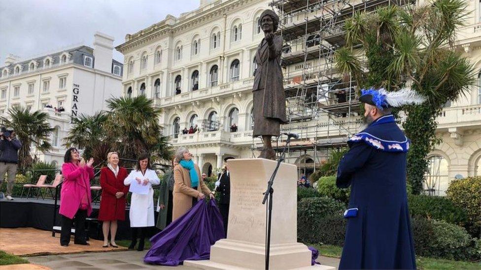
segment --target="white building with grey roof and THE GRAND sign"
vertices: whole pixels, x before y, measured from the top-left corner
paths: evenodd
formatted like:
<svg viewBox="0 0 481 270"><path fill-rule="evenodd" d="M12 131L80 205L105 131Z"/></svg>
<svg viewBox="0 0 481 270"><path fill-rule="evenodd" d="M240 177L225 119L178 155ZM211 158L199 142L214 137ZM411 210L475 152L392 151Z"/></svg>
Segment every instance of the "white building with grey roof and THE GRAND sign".
<svg viewBox="0 0 481 270"><path fill-rule="evenodd" d="M52 150L33 150L38 160L63 163L71 119L107 109L104 100L118 97L123 64L112 59L113 37L96 32L93 48L76 46L28 60L10 55L0 67L0 114L23 106L49 115L55 128Z"/></svg>

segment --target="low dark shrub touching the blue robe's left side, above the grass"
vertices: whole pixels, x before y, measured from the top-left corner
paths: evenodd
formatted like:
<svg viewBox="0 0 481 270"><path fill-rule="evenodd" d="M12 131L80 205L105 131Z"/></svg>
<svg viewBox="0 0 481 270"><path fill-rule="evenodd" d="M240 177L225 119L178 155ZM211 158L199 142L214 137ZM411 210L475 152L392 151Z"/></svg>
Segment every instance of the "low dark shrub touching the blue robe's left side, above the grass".
<svg viewBox="0 0 481 270"><path fill-rule="evenodd" d="M336 214L327 216L320 220L317 231L317 241L323 244L343 246L345 240L347 220L341 215Z"/></svg>

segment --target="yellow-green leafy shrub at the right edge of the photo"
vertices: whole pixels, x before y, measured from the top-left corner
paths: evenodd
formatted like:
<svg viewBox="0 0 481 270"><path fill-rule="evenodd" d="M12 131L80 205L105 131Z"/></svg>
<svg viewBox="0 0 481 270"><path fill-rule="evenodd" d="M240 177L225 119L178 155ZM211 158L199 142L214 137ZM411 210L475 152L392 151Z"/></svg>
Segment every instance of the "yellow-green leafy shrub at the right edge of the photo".
<svg viewBox="0 0 481 270"><path fill-rule="evenodd" d="M468 232L480 237L481 230L481 176L453 180L446 191L447 197L457 206L466 210Z"/></svg>

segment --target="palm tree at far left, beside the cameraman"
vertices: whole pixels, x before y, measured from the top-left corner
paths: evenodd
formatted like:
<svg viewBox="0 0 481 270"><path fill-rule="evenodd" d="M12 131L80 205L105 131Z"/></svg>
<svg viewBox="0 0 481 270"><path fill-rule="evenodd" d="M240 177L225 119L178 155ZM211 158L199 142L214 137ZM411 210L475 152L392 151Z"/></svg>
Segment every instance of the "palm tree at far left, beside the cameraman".
<svg viewBox="0 0 481 270"><path fill-rule="evenodd" d="M43 153L50 150L49 137L54 128L48 122L48 114L41 111L31 113L27 108L14 106L8 110L7 117L0 117L0 122L3 126L13 127L22 143L18 153L20 168L32 165L32 147Z"/></svg>

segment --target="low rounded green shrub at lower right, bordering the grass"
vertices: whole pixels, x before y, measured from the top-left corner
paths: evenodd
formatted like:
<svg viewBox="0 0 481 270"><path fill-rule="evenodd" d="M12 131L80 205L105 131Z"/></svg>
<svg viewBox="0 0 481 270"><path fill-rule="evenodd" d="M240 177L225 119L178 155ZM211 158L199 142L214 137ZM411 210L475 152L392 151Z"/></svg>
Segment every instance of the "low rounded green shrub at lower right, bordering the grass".
<svg viewBox="0 0 481 270"><path fill-rule="evenodd" d="M414 246L418 256L449 260L479 260L478 241L466 229L444 220L417 218L412 221Z"/></svg>

